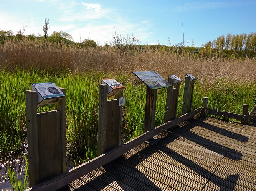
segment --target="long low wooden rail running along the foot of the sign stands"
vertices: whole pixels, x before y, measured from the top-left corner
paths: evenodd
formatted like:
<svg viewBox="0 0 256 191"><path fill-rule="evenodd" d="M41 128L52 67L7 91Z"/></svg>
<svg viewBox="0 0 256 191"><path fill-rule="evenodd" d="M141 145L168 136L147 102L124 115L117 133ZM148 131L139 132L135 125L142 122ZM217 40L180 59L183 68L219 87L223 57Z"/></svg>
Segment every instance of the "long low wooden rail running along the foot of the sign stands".
<svg viewBox="0 0 256 191"><path fill-rule="evenodd" d="M33 186L31 188L26 189L26 191L30 190L38 190L38 191L45 191L45 190L56 190L59 188L62 188L63 186L69 184L70 182L80 178L83 175L86 175L87 173L91 172L92 170L95 170L102 165L111 162L112 160L120 157L122 154L126 153L130 149L133 149L134 147L138 146L139 144L149 140L153 136L167 130L170 128L175 127L182 121L185 121L197 113L201 112L201 107L197 108L189 113L186 113L178 118L175 118L174 120L168 121L167 123L164 123L163 125L157 126L150 131L147 131L140 136L124 143L122 146L116 147L115 149L112 149L109 152L106 152L86 163L83 163L82 165L79 165L78 167L72 168L69 171L66 171L58 176L55 176L54 178L51 178L47 181L44 181L36 186Z"/></svg>

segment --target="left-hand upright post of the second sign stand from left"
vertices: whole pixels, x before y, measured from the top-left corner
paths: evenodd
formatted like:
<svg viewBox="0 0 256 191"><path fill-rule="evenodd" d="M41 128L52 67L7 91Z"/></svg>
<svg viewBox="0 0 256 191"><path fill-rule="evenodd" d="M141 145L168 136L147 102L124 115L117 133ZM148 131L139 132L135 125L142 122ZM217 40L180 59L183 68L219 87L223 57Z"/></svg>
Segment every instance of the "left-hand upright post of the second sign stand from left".
<svg viewBox="0 0 256 191"><path fill-rule="evenodd" d="M107 85L99 84L99 119L98 119L98 140L97 156L106 150L107 134Z"/></svg>

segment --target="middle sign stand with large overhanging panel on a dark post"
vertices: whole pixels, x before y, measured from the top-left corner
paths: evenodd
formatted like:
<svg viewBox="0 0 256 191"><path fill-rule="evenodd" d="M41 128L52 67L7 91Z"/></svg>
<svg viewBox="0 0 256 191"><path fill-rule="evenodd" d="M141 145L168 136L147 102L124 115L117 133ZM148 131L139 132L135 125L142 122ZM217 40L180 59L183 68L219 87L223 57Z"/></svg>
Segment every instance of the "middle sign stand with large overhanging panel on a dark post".
<svg viewBox="0 0 256 191"><path fill-rule="evenodd" d="M157 89L171 87L156 71L133 72L140 80L147 85L144 133L155 127L155 109L157 102Z"/></svg>

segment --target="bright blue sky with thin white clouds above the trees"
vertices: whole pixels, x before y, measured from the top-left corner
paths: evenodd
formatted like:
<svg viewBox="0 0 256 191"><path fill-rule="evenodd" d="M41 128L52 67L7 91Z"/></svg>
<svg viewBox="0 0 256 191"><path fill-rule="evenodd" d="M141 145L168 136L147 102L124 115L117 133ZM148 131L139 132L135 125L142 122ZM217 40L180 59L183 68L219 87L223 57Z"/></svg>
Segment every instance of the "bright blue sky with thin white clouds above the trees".
<svg viewBox="0 0 256 191"><path fill-rule="evenodd" d="M68 32L75 42L99 45L115 34L133 34L140 44L171 45L187 41L196 47L227 33L256 32L255 0L1 0L0 30L43 34ZM183 30L182 30L183 24Z"/></svg>

